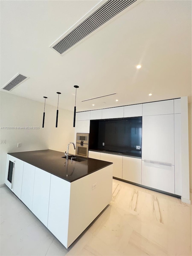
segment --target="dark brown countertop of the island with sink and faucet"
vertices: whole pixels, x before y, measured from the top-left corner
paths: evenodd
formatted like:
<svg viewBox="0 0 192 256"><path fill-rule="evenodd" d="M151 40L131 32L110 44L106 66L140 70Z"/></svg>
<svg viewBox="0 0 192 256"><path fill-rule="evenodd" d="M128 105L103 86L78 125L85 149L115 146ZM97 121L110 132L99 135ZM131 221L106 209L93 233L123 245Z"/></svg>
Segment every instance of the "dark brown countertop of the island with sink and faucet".
<svg viewBox="0 0 192 256"><path fill-rule="evenodd" d="M54 174L61 179L65 179L68 182L73 182L110 164L113 164L111 162L101 161L93 158L85 158L86 160L82 162L76 162L73 160L71 163L71 161L68 160L68 165L66 165L66 159L62 158L64 153L50 149L8 154L28 164L32 164L48 173Z"/></svg>

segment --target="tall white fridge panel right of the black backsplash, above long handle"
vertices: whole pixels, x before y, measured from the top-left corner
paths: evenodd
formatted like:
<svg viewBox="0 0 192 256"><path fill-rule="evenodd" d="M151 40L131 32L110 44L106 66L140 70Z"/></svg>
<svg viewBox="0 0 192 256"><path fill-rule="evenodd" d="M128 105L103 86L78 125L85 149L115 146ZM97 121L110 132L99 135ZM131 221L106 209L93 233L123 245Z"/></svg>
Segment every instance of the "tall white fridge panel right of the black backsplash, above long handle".
<svg viewBox="0 0 192 256"><path fill-rule="evenodd" d="M143 116L142 160L174 165L174 114Z"/></svg>

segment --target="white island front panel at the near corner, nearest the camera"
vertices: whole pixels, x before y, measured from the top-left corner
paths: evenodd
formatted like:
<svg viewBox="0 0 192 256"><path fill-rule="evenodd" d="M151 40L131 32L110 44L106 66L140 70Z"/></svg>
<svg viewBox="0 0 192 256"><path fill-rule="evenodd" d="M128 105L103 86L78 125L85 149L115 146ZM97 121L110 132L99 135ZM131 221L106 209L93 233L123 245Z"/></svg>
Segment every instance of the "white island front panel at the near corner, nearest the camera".
<svg viewBox="0 0 192 256"><path fill-rule="evenodd" d="M51 174L47 228L67 247L70 182Z"/></svg>

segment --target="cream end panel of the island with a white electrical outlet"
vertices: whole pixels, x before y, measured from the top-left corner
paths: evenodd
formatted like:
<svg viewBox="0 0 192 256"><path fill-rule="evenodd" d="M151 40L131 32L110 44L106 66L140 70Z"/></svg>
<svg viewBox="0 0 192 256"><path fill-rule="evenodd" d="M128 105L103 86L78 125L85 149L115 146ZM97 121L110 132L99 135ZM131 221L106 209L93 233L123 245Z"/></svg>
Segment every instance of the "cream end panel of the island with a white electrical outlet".
<svg viewBox="0 0 192 256"><path fill-rule="evenodd" d="M112 182L113 164L71 182L67 248L110 203Z"/></svg>

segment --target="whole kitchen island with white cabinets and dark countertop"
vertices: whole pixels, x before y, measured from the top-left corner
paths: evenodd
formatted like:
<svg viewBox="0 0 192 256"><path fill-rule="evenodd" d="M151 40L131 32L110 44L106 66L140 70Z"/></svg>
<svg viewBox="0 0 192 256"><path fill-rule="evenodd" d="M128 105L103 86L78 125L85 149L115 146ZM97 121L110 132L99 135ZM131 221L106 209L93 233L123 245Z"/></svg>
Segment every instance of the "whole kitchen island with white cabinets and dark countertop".
<svg viewBox="0 0 192 256"><path fill-rule="evenodd" d="M110 203L113 165L78 157L66 162L63 156L49 149L8 153L5 184L68 248Z"/></svg>

